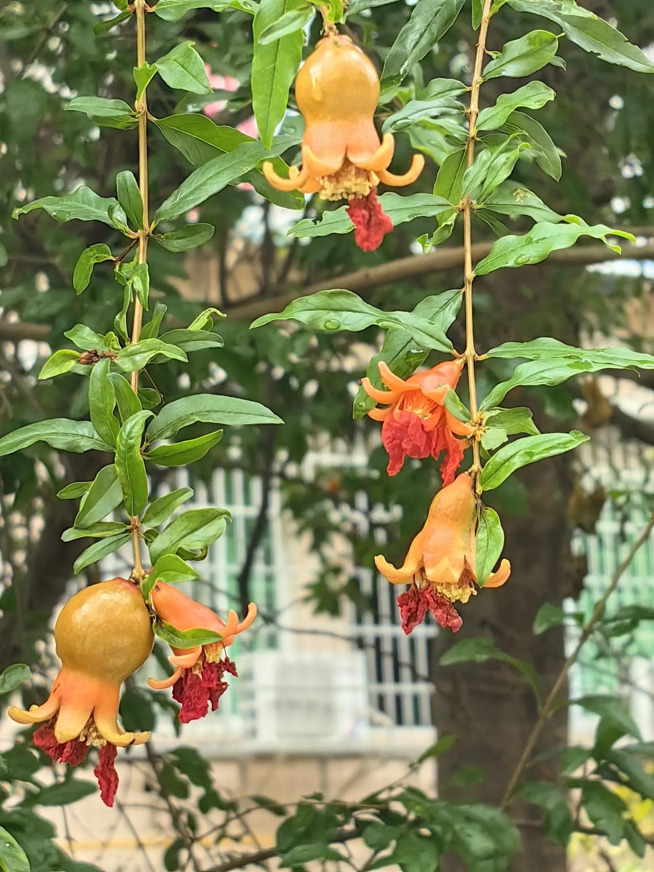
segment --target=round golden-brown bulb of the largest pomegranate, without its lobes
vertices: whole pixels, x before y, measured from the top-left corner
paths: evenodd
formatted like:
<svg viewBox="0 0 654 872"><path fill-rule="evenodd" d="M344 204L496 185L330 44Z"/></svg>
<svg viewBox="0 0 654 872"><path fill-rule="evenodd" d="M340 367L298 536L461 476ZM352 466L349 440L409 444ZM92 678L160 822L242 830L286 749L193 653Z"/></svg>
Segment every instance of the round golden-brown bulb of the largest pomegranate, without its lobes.
<svg viewBox="0 0 654 872"><path fill-rule="evenodd" d="M125 578L78 591L61 610L54 636L66 669L112 685L146 662L154 640L140 589Z"/></svg>

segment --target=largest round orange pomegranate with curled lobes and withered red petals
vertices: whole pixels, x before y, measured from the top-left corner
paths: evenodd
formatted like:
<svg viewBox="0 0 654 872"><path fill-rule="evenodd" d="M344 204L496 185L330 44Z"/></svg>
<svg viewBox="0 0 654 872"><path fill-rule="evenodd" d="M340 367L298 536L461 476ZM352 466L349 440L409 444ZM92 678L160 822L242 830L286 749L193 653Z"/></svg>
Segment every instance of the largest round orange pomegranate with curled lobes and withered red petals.
<svg viewBox="0 0 654 872"><path fill-rule="evenodd" d="M99 748L94 774L102 800L112 807L118 788L116 748L150 738L149 732L118 726L120 687L153 646L140 589L125 578L112 578L78 591L61 610L55 642L62 666L50 697L29 712L12 705L7 713L18 724L47 721L34 733L34 745L53 762L77 766L89 746Z"/></svg>

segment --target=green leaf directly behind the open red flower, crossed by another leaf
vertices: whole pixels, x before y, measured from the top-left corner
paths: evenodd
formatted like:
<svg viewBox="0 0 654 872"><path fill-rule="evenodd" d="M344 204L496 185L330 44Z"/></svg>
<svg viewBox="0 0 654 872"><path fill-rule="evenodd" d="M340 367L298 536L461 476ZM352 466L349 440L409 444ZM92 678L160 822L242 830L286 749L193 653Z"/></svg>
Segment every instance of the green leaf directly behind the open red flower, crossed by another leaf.
<svg viewBox="0 0 654 872"><path fill-rule="evenodd" d="M462 302L462 291L446 290L442 294L426 296L415 307L413 314L428 318L445 333L459 314ZM426 348L414 342L412 337L407 335L406 330L392 327L386 333L381 351L371 358L365 374L370 378L373 387L382 389L384 385L378 368L380 360L388 364L391 371L399 378L408 378L425 362L428 353ZM352 406L352 417L354 419L363 418L375 405L377 404L368 396L363 387L359 387Z"/></svg>

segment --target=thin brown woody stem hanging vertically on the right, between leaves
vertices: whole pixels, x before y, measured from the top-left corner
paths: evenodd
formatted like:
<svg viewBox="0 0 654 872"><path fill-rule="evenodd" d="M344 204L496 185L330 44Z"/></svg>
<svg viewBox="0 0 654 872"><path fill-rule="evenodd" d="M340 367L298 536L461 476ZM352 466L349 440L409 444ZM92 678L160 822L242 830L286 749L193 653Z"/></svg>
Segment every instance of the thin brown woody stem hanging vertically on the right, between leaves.
<svg viewBox="0 0 654 872"><path fill-rule="evenodd" d="M481 87L481 69L484 63L484 54L486 52L486 37L488 32L488 22L490 21L490 8L492 0L484 0L483 11L481 15L481 26L479 31L479 42L477 43L477 55L474 60L473 84L470 89L470 106L467 111L468 119L468 136L467 136L467 166L472 167L474 161L474 140L476 136L475 127L477 126L477 118L479 116L479 93ZM477 408L477 386L474 381L474 329L473 329L473 203L470 197L466 197L463 201L463 248L464 248L464 292L466 296L466 364L467 364L467 383L470 393L470 416L476 422ZM479 481L479 473L481 469L479 439L473 439L473 469L475 479Z"/></svg>

